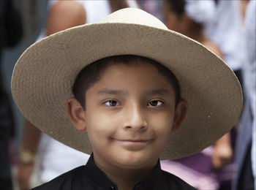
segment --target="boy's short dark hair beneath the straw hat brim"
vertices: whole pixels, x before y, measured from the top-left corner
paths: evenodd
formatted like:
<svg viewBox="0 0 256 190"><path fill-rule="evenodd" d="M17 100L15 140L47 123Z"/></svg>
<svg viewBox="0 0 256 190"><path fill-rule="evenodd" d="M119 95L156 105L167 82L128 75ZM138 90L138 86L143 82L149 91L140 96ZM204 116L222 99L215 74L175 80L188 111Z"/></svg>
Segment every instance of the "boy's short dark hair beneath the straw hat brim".
<svg viewBox="0 0 256 190"><path fill-rule="evenodd" d="M167 69L162 64L159 64L159 62L154 61L150 58L144 58L141 56L133 56L133 55L124 55L124 56L110 56L107 58L99 59L98 61L94 61L92 64L89 64L85 68L83 68L78 76L75 79L75 83L72 86L72 93L75 96L75 99L80 102L80 104L83 106L83 108L86 108L86 102L85 102L85 95L86 91L94 85L98 80L100 80L100 77L102 76L102 73L105 71L105 69L108 68L108 66L113 64L124 64L124 65L132 65L138 63L138 61L145 61L148 64L152 64L156 66L158 72L160 72L170 83L170 85L174 89L175 98L176 98L176 105L180 101L180 87L178 84L178 80L176 79L175 75L170 71L170 69Z"/></svg>

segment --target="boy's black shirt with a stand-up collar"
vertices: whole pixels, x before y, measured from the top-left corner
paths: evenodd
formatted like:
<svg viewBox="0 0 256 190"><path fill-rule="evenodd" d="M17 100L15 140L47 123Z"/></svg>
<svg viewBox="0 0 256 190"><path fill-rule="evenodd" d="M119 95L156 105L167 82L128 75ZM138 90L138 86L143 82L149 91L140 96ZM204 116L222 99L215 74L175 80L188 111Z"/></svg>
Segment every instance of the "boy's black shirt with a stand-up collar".
<svg viewBox="0 0 256 190"><path fill-rule="evenodd" d="M94 164L93 154L85 166L77 167L70 170L59 177L50 180L48 183L42 184L34 188L34 190L117 190L116 183L114 183L107 175L105 175L99 167ZM146 178L138 181L132 190L189 190L195 189L189 186L184 180L161 170L158 161L157 166L148 174Z"/></svg>

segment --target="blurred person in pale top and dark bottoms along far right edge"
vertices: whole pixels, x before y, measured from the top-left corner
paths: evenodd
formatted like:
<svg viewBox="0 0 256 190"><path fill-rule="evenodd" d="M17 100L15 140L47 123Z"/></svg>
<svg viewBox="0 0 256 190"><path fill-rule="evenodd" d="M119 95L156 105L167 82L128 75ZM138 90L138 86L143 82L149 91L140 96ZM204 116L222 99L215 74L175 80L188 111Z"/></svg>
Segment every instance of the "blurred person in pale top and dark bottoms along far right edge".
<svg viewBox="0 0 256 190"><path fill-rule="evenodd" d="M238 129L235 161L236 172L233 190L256 189L256 1L247 4L244 20L244 61L242 76L244 81L244 112Z"/></svg>

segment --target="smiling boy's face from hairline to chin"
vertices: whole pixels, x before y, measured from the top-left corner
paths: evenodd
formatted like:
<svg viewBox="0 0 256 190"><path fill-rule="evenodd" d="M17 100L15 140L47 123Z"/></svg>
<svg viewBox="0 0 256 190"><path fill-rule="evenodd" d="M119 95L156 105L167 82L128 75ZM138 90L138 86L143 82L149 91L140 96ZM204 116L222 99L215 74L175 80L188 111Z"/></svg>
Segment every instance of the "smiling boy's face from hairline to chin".
<svg viewBox="0 0 256 190"><path fill-rule="evenodd" d="M173 87L155 66L113 64L86 91L86 110L71 111L81 120L72 123L87 130L99 166L149 167L184 118L180 104L175 110Z"/></svg>

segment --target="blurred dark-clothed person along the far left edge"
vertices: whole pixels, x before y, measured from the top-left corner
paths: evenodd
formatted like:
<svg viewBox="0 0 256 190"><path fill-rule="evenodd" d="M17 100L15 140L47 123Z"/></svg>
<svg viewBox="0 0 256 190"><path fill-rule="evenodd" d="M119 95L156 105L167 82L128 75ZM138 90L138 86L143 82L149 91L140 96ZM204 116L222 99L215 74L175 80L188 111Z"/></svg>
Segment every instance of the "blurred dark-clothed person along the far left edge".
<svg viewBox="0 0 256 190"><path fill-rule="evenodd" d="M0 1L0 66L1 53L5 47L14 47L23 35L20 13L11 0ZM3 85L0 69L0 189L12 189L10 139L14 131L14 121L10 99Z"/></svg>

